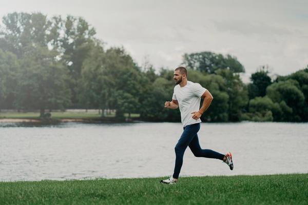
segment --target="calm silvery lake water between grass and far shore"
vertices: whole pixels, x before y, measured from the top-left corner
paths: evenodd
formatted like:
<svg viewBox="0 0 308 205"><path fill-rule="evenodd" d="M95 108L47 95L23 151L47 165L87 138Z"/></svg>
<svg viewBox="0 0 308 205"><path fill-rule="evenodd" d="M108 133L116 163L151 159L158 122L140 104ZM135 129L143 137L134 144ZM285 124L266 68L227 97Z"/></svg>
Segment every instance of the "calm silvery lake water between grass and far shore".
<svg viewBox="0 0 308 205"><path fill-rule="evenodd" d="M0 124L0 181L170 176L180 123ZM189 148L180 176L308 173L308 124L203 123L203 149L231 151L234 170Z"/></svg>

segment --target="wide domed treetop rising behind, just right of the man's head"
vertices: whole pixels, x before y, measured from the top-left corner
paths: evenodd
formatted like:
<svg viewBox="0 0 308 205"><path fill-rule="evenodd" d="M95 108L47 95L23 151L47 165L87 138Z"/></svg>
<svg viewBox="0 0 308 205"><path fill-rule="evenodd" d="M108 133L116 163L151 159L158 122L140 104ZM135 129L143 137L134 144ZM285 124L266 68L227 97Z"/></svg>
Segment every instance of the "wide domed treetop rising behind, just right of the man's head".
<svg viewBox="0 0 308 205"><path fill-rule="evenodd" d="M219 69L227 69L233 73L245 72L243 65L236 57L231 55L216 54L213 52L185 53L183 65L187 68L206 73L216 73Z"/></svg>

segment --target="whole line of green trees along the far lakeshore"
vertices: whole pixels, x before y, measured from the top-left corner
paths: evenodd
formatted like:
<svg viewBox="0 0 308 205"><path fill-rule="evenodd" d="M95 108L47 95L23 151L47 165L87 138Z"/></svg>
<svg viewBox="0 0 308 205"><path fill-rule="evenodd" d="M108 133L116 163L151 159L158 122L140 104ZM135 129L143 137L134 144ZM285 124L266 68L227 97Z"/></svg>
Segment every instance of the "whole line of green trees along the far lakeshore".
<svg viewBox="0 0 308 205"><path fill-rule="evenodd" d="M82 17L9 13L0 28L0 109L113 109L141 120L179 121L171 100L173 69L140 66L123 47L106 49ZM244 84L235 56L186 53L188 79L214 96L203 121L308 121L308 67L269 77L266 67ZM104 117L104 112L102 112Z"/></svg>

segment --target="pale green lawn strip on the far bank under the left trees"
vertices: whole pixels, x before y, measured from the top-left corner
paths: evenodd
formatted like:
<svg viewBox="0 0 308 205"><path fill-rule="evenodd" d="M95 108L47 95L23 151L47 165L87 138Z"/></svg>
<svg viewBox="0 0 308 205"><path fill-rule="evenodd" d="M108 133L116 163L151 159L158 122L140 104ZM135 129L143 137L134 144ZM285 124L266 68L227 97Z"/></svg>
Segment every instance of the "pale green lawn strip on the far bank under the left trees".
<svg viewBox="0 0 308 205"><path fill-rule="evenodd" d="M124 114L128 117L128 114ZM131 114L131 117L139 117L140 114ZM37 119L40 117L38 112L0 112L1 118L20 118L20 119ZM92 119L100 118L98 112L51 112L51 117L56 119ZM115 117L115 113L111 113L106 117Z"/></svg>

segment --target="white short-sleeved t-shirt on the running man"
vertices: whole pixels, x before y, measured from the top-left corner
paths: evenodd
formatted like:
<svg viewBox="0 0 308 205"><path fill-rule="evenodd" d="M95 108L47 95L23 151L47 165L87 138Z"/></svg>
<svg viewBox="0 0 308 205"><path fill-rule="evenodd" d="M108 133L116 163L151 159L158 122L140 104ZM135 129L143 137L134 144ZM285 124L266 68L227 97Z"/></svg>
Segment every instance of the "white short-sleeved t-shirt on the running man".
<svg viewBox="0 0 308 205"><path fill-rule="evenodd" d="M178 100L183 127L201 122L200 118L192 118L191 113L199 111L201 96L205 91L200 84L191 81L187 81L187 85L182 88L180 85L175 86L172 99Z"/></svg>

